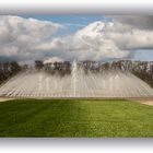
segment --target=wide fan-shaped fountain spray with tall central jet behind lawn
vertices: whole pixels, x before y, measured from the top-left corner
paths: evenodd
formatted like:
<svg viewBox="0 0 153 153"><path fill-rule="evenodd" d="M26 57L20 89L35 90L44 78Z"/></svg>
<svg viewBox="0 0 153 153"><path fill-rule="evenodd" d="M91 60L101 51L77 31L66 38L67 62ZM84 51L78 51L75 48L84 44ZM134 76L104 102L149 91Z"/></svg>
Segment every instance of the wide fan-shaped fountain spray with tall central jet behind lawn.
<svg viewBox="0 0 153 153"><path fill-rule="evenodd" d="M45 71L22 72L0 86L8 97L153 97L153 89L128 71L85 73L72 63L63 76Z"/></svg>

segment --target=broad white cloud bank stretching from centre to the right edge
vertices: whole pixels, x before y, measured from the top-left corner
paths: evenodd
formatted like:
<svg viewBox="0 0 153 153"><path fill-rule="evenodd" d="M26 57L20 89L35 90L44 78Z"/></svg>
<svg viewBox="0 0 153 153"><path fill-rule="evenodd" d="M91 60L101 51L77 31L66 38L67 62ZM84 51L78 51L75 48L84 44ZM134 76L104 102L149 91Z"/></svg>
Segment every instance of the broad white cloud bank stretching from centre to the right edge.
<svg viewBox="0 0 153 153"><path fill-rule="evenodd" d="M67 52L69 59L126 59L132 58L138 49L152 49L152 36L153 30L142 30L116 21L98 21L89 24L71 36L56 38L46 46L54 46L54 50L61 49L62 54ZM60 45L57 45L57 42Z"/></svg>

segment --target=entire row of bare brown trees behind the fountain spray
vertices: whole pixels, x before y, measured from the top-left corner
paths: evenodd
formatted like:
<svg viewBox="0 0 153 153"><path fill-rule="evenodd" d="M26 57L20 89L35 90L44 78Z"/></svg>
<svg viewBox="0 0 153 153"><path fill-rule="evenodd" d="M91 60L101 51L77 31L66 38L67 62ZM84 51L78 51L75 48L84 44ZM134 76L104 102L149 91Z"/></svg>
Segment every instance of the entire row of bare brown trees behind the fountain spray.
<svg viewBox="0 0 153 153"><path fill-rule="evenodd" d="M71 73L72 63L70 61L44 63L42 60L36 60L34 67L38 71L66 75ZM82 61L78 63L78 68L82 68L85 73L89 71L103 73L106 70L130 71L153 87L153 61L119 60L105 63ZM16 61L0 62L0 84L25 69L28 69L28 64L20 66Z"/></svg>

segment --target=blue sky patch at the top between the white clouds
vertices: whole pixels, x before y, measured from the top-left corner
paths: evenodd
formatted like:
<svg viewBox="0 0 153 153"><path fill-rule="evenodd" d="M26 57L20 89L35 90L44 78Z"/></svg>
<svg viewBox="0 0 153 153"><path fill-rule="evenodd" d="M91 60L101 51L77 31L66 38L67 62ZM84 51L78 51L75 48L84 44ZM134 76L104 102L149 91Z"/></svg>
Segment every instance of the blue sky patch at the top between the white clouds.
<svg viewBox="0 0 153 153"><path fill-rule="evenodd" d="M110 17L103 15L21 15L22 17L33 17L40 21L51 21L66 25L64 31L59 31L58 35L68 35L76 32L78 30L85 27L87 24L95 21L110 21Z"/></svg>

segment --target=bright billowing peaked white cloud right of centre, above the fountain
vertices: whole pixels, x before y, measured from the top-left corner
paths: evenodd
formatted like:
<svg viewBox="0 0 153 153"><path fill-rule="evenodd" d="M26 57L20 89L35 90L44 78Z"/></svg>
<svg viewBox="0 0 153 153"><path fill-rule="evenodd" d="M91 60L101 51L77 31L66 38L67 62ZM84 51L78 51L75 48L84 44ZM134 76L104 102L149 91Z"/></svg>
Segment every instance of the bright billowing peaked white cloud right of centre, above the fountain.
<svg viewBox="0 0 153 153"><path fill-rule="evenodd" d="M56 38L50 43L38 45L37 49L56 50L67 60L105 60L125 58L129 56L128 50L121 50L110 38L107 38L105 31L113 23L94 22L75 34ZM67 56L66 56L67 55Z"/></svg>

